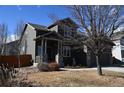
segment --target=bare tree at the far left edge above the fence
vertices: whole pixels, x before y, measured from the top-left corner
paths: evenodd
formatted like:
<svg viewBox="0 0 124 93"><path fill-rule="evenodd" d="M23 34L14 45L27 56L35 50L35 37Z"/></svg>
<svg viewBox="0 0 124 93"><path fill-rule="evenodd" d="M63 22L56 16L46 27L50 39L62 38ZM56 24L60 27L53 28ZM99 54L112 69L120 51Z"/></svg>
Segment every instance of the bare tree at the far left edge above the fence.
<svg viewBox="0 0 124 93"><path fill-rule="evenodd" d="M6 43L8 38L8 28L6 24L0 24L0 55L5 55L6 53Z"/></svg>

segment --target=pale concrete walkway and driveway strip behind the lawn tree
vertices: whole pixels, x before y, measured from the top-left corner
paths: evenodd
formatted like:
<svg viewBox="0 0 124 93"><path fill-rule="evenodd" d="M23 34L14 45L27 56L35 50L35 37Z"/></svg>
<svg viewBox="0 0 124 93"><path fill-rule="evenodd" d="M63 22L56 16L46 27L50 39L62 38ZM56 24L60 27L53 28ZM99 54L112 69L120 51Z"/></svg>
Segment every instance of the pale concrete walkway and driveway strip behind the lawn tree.
<svg viewBox="0 0 124 93"><path fill-rule="evenodd" d="M82 70L96 70L96 69L97 68L79 68L79 69L61 68L61 70L67 70L67 71L82 71ZM124 73L124 67L102 67L102 70L109 70L109 71Z"/></svg>

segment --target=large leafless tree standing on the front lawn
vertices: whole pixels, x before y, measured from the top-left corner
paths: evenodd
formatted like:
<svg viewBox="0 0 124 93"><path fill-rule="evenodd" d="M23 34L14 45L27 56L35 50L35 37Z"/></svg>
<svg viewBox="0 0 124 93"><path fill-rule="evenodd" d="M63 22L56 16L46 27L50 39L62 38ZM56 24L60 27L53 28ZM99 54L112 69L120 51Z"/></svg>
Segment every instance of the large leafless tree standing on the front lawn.
<svg viewBox="0 0 124 93"><path fill-rule="evenodd" d="M70 6L69 6L70 7ZM70 12L85 38L79 39L95 55L97 71L102 75L99 58L112 46L111 36L123 24L120 6L71 6Z"/></svg>

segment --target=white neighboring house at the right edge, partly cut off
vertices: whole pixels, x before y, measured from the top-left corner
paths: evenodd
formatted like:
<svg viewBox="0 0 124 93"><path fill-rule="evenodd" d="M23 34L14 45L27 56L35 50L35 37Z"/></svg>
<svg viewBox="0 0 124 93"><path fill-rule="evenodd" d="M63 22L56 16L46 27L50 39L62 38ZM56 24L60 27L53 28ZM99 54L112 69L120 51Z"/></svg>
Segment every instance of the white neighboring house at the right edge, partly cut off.
<svg viewBox="0 0 124 93"><path fill-rule="evenodd" d="M116 31L112 40L116 46L112 49L112 56L118 61L124 62L124 28L121 27Z"/></svg>

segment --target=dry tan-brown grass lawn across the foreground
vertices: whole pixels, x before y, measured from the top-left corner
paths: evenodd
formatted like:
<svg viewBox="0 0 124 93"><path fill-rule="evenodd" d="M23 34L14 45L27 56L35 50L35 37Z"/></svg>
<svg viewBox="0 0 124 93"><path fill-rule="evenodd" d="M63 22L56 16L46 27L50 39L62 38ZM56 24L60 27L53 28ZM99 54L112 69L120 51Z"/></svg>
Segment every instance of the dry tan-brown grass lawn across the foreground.
<svg viewBox="0 0 124 93"><path fill-rule="evenodd" d="M124 73L103 73L98 76L96 71L37 72L28 74L27 79L51 87L124 86Z"/></svg>

